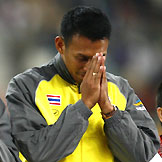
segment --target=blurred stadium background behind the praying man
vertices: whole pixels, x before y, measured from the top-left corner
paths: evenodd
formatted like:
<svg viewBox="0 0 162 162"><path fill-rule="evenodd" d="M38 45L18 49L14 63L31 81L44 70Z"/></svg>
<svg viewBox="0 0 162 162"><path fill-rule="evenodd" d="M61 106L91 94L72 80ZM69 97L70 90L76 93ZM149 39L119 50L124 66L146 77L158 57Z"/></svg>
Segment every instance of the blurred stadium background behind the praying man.
<svg viewBox="0 0 162 162"><path fill-rule="evenodd" d="M0 0L0 97L18 73L49 61L62 16L77 5L112 23L107 71L126 78L153 118L162 81L162 0ZM99 24L100 25L100 24Z"/></svg>

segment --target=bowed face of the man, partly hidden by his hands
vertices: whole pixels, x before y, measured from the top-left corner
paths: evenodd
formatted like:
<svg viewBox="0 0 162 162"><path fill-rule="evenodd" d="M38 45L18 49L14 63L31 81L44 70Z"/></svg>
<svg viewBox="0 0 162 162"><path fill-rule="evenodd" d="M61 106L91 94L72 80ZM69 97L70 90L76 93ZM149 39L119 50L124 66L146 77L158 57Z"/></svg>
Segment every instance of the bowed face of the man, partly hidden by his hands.
<svg viewBox="0 0 162 162"><path fill-rule="evenodd" d="M62 58L71 76L77 83L82 82L88 64L96 53L107 54L108 44L108 39L91 41L79 34L72 37L72 40L62 52Z"/></svg>

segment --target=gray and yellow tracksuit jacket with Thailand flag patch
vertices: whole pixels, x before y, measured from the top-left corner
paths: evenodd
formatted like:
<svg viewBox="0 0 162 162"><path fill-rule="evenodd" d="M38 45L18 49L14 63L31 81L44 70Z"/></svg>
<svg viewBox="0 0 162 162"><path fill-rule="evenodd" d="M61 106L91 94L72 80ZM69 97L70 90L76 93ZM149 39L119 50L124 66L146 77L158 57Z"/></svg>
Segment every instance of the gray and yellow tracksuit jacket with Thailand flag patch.
<svg viewBox="0 0 162 162"><path fill-rule="evenodd" d="M108 95L119 110L103 120L89 110L60 54L15 76L6 94L16 145L29 162L148 162L159 136L127 80L107 73Z"/></svg>

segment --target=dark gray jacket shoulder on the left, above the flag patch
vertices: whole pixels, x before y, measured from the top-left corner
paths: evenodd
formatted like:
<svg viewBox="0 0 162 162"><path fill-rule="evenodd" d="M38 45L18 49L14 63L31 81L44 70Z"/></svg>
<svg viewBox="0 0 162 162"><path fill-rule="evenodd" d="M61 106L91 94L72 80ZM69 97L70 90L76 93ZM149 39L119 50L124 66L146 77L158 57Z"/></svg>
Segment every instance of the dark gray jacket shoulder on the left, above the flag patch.
<svg viewBox="0 0 162 162"><path fill-rule="evenodd" d="M13 92L16 89L21 89L23 92L34 92L41 80L50 80L57 70L54 66L53 59L40 67L33 67L26 71L14 76L8 84L8 93ZM17 90L16 90L17 91ZM7 93L7 94L8 94Z"/></svg>

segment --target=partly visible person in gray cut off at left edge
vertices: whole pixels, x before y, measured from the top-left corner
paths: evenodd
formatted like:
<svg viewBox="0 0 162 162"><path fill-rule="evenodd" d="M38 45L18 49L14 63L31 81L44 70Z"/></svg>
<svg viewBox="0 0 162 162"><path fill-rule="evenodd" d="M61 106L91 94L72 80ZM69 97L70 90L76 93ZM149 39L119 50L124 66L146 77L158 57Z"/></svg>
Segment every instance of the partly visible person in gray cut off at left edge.
<svg viewBox="0 0 162 162"><path fill-rule="evenodd" d="M20 162L18 151L11 137L11 126L7 110L0 99L0 162Z"/></svg>

